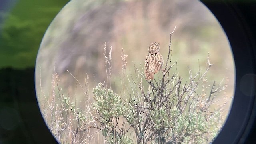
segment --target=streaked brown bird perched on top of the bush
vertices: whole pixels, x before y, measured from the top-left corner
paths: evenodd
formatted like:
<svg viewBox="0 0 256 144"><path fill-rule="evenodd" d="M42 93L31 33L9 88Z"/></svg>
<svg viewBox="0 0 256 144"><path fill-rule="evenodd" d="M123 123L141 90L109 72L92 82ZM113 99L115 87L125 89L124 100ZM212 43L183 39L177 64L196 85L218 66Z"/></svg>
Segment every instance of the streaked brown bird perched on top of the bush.
<svg viewBox="0 0 256 144"><path fill-rule="evenodd" d="M148 56L145 60L146 80L153 79L154 74L161 70L164 63L163 56L159 52L159 43L153 42L148 48Z"/></svg>

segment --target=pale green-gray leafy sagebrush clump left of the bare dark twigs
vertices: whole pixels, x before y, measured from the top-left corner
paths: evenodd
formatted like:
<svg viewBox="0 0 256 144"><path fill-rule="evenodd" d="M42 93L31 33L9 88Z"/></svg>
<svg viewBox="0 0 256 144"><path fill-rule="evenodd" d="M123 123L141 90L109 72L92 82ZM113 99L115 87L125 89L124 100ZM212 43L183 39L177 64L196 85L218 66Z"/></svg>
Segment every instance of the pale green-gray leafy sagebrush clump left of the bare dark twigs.
<svg viewBox="0 0 256 144"><path fill-rule="evenodd" d="M103 84L93 88L93 108L100 116L99 123L102 124L102 135L106 137L109 144L132 144L128 136L118 132L113 120L124 115L126 106L110 88L102 88Z"/></svg>

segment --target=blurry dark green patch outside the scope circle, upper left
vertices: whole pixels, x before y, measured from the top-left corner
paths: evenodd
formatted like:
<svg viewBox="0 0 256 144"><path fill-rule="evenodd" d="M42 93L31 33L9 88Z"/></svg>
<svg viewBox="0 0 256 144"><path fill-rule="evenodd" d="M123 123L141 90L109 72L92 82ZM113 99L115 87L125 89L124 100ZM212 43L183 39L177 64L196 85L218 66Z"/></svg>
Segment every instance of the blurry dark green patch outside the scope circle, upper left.
<svg viewBox="0 0 256 144"><path fill-rule="evenodd" d="M19 0L10 14L5 14L0 35L0 68L34 66L44 32L68 1Z"/></svg>

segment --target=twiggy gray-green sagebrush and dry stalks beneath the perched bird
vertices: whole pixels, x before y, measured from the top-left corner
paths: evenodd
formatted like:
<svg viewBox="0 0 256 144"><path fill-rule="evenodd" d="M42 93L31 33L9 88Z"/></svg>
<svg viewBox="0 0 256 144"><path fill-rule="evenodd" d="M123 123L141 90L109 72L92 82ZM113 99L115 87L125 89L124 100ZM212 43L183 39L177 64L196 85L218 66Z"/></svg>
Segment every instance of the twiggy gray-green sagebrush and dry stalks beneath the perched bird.
<svg viewBox="0 0 256 144"><path fill-rule="evenodd" d="M193 75L188 68L189 81L184 81L178 72L170 72L178 66L177 62L171 64L171 36L165 71L158 72L153 80L146 80L143 69L136 66L136 77L131 72L126 74L127 55L122 50L122 96L111 88L112 48L107 56L105 43L108 77L106 82L93 88L94 102L90 101L88 76L85 87L77 80L88 98L85 109L77 108L72 96L61 93L58 74L54 74L52 85L55 89L57 84L57 90L52 92L52 101L46 100L42 93L46 106L41 106L41 110L55 138L63 144L92 143L92 140L101 143L100 134L107 144L212 142L224 122L228 78L224 84L208 82L207 72L212 66L209 55L203 72L199 70ZM216 104L217 96L223 96L222 104Z"/></svg>

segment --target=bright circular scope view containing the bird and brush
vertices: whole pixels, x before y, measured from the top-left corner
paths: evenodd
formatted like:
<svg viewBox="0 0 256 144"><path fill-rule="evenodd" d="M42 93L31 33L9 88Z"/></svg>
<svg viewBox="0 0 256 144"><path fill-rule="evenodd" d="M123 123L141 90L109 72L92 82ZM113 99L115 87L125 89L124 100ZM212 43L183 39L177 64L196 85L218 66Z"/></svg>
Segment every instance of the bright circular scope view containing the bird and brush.
<svg viewBox="0 0 256 144"><path fill-rule="evenodd" d="M235 85L226 34L198 0L71 0L35 73L61 144L209 144Z"/></svg>

